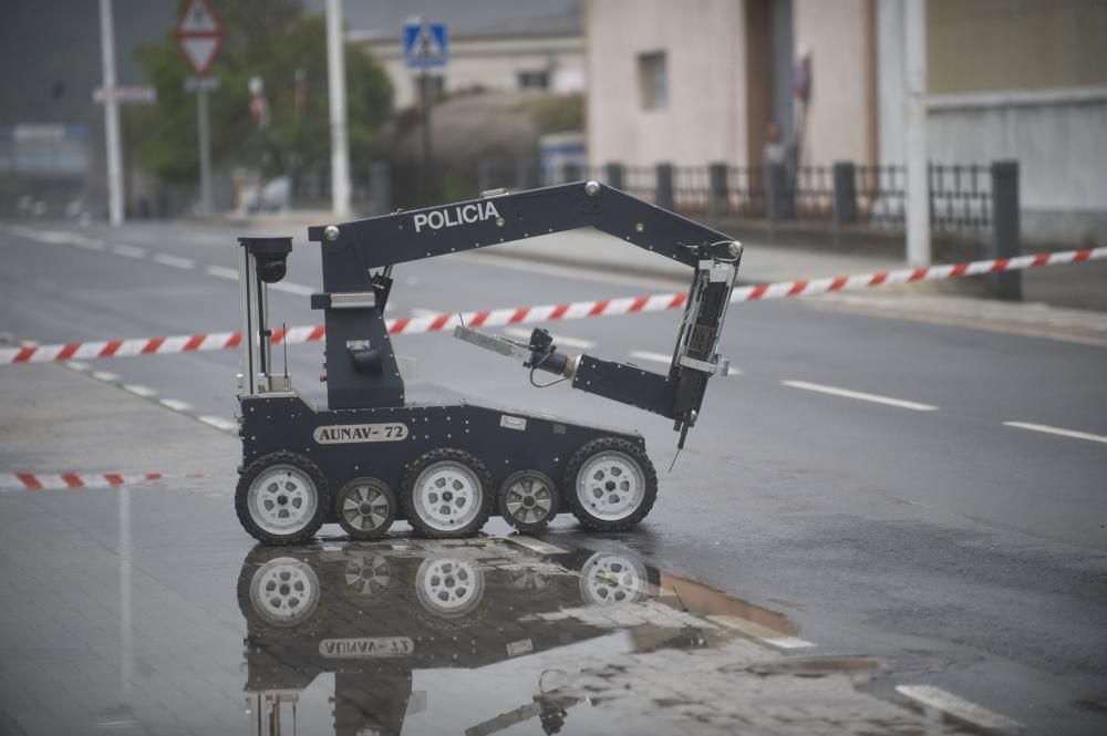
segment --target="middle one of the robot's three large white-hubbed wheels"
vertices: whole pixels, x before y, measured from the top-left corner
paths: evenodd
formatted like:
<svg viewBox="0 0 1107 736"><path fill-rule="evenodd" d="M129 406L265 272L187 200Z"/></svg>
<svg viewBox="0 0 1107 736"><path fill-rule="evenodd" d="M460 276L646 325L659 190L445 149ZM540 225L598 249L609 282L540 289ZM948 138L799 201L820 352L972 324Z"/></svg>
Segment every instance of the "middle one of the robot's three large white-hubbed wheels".
<svg viewBox="0 0 1107 736"><path fill-rule="evenodd" d="M402 498L416 531L436 538L467 537L492 514L492 475L470 453L432 449L407 468Z"/></svg>

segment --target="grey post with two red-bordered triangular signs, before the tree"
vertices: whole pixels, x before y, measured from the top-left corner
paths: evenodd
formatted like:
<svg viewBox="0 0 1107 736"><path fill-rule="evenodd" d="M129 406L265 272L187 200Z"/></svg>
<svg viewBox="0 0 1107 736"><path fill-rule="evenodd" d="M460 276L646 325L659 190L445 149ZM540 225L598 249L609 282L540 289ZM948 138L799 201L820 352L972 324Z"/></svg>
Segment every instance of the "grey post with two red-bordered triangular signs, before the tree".
<svg viewBox="0 0 1107 736"><path fill-rule="evenodd" d="M185 8L185 13L177 21L177 44L185 53L188 65L199 77L199 81L207 79L207 73L211 70L211 62L223 45L223 27L219 20L211 12L207 0L190 0ZM196 93L196 124L199 132L199 158L200 158L200 201L199 210L207 215L211 211L211 134L210 121L208 117L207 93L209 90L218 87L210 84L185 84L185 89ZM192 80L189 80L192 82Z"/></svg>

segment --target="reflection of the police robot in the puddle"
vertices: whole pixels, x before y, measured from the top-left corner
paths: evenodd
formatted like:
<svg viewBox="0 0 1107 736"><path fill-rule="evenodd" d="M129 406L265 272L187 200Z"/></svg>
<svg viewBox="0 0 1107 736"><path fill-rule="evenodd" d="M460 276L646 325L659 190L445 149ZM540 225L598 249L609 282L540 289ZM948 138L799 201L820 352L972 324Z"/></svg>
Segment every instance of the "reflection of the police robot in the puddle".
<svg viewBox="0 0 1107 736"><path fill-rule="evenodd" d="M600 636L609 630L542 615L641 601L658 583L655 569L627 553L570 552L555 563L501 541L257 547L238 582L251 732L280 733L299 693L333 672L335 734L399 734L413 671L476 668ZM470 730L537 716L557 733L572 702L538 686L509 723Z"/></svg>

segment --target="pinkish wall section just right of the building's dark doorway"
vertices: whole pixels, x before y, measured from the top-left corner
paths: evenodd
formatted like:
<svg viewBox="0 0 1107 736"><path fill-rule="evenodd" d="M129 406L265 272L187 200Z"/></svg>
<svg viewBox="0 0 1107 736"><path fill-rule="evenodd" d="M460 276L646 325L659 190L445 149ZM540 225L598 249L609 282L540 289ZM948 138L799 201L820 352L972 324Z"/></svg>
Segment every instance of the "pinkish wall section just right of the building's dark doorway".
<svg viewBox="0 0 1107 736"><path fill-rule="evenodd" d="M811 52L811 99L801 164L870 163L876 131L867 66L867 0L795 0L797 54ZM801 113L796 110L797 120Z"/></svg>

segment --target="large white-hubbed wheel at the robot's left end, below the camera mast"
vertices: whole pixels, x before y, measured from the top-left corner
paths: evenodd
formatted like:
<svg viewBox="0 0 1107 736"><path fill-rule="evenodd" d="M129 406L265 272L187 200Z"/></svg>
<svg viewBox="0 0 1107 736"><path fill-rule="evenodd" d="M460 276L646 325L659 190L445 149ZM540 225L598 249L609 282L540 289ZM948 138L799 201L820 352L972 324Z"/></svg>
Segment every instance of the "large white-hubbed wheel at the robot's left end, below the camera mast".
<svg viewBox="0 0 1107 736"><path fill-rule="evenodd" d="M328 497L327 479L314 463L280 452L259 457L242 470L235 510L255 539L298 545L323 525Z"/></svg>

